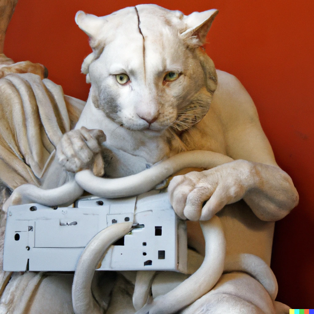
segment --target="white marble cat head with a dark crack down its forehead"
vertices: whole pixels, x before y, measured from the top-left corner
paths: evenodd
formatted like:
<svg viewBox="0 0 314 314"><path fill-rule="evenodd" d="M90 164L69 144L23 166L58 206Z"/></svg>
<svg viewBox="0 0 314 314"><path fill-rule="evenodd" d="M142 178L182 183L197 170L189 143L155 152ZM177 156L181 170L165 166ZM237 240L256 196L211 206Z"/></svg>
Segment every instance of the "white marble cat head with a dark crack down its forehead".
<svg viewBox="0 0 314 314"><path fill-rule="evenodd" d="M93 50L82 64L95 107L130 130L183 131L208 112L217 86L202 49L218 10L184 15L142 4L75 21Z"/></svg>

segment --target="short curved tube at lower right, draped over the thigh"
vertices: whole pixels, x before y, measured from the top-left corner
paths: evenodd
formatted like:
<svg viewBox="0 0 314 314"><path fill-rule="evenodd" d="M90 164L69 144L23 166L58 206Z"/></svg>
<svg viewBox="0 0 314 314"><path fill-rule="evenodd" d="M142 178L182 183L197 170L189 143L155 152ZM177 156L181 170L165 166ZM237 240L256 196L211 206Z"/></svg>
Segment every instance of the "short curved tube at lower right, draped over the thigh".
<svg viewBox="0 0 314 314"><path fill-rule="evenodd" d="M226 256L224 272L244 272L251 275L267 290L273 300L278 293L277 279L270 267L253 254L236 254Z"/></svg>

